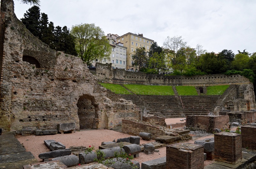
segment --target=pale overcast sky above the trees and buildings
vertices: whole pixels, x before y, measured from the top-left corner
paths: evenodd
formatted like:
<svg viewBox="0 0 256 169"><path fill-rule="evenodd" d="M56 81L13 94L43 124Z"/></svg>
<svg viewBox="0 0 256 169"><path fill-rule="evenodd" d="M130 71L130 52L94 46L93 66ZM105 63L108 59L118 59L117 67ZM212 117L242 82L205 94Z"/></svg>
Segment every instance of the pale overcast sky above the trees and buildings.
<svg viewBox="0 0 256 169"><path fill-rule="evenodd" d="M14 3L19 19L31 7ZM182 36L192 48L200 44L208 52L256 52L254 0L41 0L40 5L54 26L94 23L106 35L142 33L159 46L167 36Z"/></svg>

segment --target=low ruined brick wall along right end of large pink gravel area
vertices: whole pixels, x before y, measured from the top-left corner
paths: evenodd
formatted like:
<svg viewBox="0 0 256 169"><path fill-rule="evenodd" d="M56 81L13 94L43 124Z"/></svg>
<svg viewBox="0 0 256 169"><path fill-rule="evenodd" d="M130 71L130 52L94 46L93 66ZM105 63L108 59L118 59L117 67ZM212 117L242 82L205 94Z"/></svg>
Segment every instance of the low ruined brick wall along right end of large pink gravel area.
<svg viewBox="0 0 256 169"><path fill-rule="evenodd" d="M160 125L150 125L146 124L143 121L135 121L135 120L122 120L122 132L126 134L131 134L135 136L139 136L140 132L148 132L151 133L151 139L155 139L158 136L165 135L165 131L163 126Z"/></svg>

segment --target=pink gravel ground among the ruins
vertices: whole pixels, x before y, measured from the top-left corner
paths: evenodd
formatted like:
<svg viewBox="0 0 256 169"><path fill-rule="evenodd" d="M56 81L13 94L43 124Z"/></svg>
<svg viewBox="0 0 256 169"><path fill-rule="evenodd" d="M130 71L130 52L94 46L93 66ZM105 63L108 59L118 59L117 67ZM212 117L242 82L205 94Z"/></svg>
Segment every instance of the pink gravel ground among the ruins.
<svg viewBox="0 0 256 169"><path fill-rule="evenodd" d="M172 119L166 119L167 124L174 124L174 123L180 123L181 118L172 118ZM70 146L86 146L89 145L94 146L96 149L98 149L99 145L103 141L113 141L114 139L120 139L125 137L130 137L129 134L124 134L121 132L116 132L113 130L81 130L77 131L75 133L66 133L66 134L55 134L55 135L42 135L42 136L16 136L16 138L19 140L21 144L24 145L26 148L26 151L32 152L34 157L40 162L41 159L38 158L38 155L43 152L49 152L49 148L44 144L44 140L55 140L57 142L61 142L66 146L66 148L69 148ZM200 139L210 138L214 137L213 135L203 137ZM140 139L140 144L145 144L149 142L154 142L154 140L146 141ZM194 143L194 140L190 140L189 143ZM135 158L134 160L138 161L141 165L142 162L149 161L152 159L157 159L166 156L166 148L162 147L159 148L159 152L155 152L154 154L146 155L145 153L141 152L139 153L139 157ZM212 163L213 161L206 160L205 165Z"/></svg>

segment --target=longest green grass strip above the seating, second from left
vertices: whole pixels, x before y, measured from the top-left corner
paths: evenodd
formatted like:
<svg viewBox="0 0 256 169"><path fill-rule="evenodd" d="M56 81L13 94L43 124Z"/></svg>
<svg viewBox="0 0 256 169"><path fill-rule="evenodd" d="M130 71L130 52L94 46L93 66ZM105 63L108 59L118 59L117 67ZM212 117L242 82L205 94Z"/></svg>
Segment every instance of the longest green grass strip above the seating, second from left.
<svg viewBox="0 0 256 169"><path fill-rule="evenodd" d="M174 95L172 86L124 85L135 94L141 95Z"/></svg>

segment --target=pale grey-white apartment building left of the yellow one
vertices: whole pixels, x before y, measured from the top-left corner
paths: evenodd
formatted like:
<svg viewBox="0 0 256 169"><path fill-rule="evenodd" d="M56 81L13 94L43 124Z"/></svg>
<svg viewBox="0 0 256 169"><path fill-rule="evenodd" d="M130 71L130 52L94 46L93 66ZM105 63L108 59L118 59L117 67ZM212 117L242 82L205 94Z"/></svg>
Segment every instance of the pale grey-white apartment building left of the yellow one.
<svg viewBox="0 0 256 169"><path fill-rule="evenodd" d="M100 62L102 64L112 63L112 68L115 69L126 69L126 50L127 48L124 47L124 44L119 42L117 43L117 34L108 34L107 39L109 40L109 44L111 46L111 53L108 58L103 58L102 60L95 59L93 61L93 65L96 62Z"/></svg>

